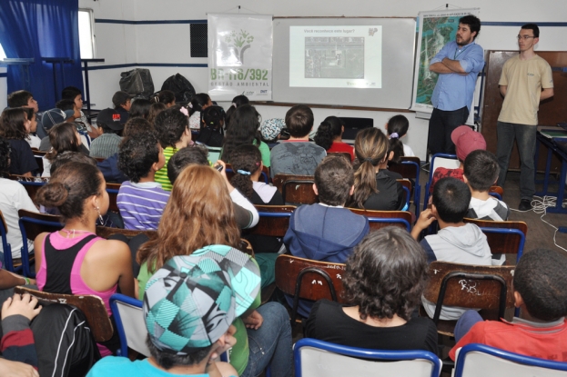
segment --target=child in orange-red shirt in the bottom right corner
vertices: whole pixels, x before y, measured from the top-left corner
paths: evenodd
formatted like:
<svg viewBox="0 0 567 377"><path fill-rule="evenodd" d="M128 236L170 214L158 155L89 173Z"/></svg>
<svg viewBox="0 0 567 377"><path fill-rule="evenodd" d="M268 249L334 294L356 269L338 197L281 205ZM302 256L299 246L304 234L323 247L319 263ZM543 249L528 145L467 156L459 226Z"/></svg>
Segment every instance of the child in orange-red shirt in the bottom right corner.
<svg viewBox="0 0 567 377"><path fill-rule="evenodd" d="M528 319L482 321L479 313L464 313L455 327L456 352L469 343L555 362L567 362L567 258L546 249L524 253L513 276L514 301Z"/></svg>

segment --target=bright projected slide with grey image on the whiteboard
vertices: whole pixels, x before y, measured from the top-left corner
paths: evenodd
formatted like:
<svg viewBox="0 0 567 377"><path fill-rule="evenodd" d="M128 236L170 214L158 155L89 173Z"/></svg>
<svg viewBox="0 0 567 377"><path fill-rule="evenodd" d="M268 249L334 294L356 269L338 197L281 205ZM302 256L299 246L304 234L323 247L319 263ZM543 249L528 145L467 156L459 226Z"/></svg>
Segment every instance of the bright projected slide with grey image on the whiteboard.
<svg viewBox="0 0 567 377"><path fill-rule="evenodd" d="M381 88L382 26L290 26L289 86Z"/></svg>

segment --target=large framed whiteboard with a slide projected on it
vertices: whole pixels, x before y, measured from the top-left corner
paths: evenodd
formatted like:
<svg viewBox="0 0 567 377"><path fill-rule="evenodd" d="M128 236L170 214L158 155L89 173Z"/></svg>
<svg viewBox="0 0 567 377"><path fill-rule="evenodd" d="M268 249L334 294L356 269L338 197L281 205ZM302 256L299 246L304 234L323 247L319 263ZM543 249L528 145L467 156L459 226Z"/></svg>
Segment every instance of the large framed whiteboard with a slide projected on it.
<svg viewBox="0 0 567 377"><path fill-rule="evenodd" d="M356 87L357 82L363 80L351 80L355 87L338 87L340 84L329 84L329 87L310 87L306 84L297 83L297 77L304 78L312 74L308 68L305 71L297 72L298 64L294 63L298 49L297 38L294 44L290 44L290 30L292 37L297 30L297 26L323 32L323 29L331 27L341 28L342 26L353 26L352 30L364 29L368 26L369 35L378 30L381 36L381 51L372 50L374 45L366 45L366 55L371 51L380 55L381 69L380 78L376 75L369 80L369 85L380 87ZM329 26L329 27L322 27ZM378 34L377 34L378 35ZM273 100L274 102L294 103L294 104L328 104L334 106L359 106L375 107L387 109L408 109L411 104L411 90L413 79L413 64L416 43L416 20L415 18L274 18L274 53L273 53ZM307 42L306 42L307 45ZM291 47L291 48L290 48ZM303 48L303 47L301 47ZM291 51L291 56L290 56ZM334 50L331 50L334 51ZM307 52L306 47L306 54ZM334 54L334 53L333 53ZM341 52L337 50L337 61L329 64L341 64ZM292 66L296 67L291 72L292 83L290 85L290 59ZM367 59L367 62L369 60ZM370 62L373 62L370 60ZM333 68L333 67L331 67ZM367 64L368 68L368 64ZM303 69L299 67L299 69ZM368 75L368 74L367 74ZM314 80L304 79L302 83ZM359 78L359 76L357 76ZM332 80L331 80L332 81ZM339 82L339 80L336 80Z"/></svg>

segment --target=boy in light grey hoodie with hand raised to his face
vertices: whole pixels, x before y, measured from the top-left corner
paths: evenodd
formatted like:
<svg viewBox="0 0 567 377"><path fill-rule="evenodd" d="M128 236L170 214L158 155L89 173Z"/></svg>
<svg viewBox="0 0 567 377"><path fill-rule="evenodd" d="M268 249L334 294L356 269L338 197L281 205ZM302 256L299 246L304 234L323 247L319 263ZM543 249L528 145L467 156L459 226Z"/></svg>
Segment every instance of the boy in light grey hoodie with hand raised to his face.
<svg viewBox="0 0 567 377"><path fill-rule="evenodd" d="M427 255L427 262L434 261L465 263L476 265L501 265L504 255L494 259L486 235L473 223L463 223L462 219L469 210L471 190L456 178L441 178L435 184L431 208L420 213L420 218L411 230L411 235L418 240L421 231L427 229L434 220L439 223L437 234L426 235L421 240L421 247ZM435 303L422 299L423 307L432 318ZM441 320L457 320L466 310L460 307L443 305Z"/></svg>

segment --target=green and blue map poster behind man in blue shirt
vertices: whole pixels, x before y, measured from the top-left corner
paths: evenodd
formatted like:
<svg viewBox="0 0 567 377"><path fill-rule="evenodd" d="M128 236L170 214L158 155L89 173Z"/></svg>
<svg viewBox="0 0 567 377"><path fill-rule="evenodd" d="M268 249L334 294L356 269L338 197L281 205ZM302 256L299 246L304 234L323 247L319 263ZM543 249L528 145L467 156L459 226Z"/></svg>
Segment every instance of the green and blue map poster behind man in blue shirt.
<svg viewBox="0 0 567 377"><path fill-rule="evenodd" d="M441 11L420 12L418 50L415 55L415 73L413 74L413 95L410 110L431 113L431 95L438 74L430 72L430 60L440 52L444 45L455 40L459 19L465 15L480 15L480 8L445 9ZM470 120L474 112L471 111ZM469 123L469 122L467 122Z"/></svg>

